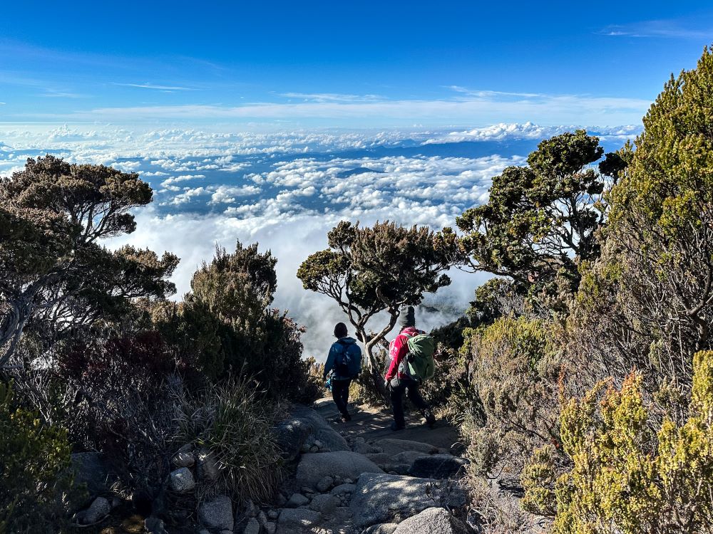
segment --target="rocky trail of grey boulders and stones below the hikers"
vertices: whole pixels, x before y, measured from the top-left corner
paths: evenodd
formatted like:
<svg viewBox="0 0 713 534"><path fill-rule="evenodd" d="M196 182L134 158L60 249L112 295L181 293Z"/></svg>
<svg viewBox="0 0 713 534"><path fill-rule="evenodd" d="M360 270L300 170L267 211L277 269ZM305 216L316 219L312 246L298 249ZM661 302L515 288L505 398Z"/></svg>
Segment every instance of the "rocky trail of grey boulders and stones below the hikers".
<svg viewBox="0 0 713 534"><path fill-rule="evenodd" d="M459 456L456 429L442 423L431 429L418 416L402 431L391 431L390 423L391 415L376 409L356 409L351 422L339 422L329 399L314 409L294 407L275 428L289 466L275 500L236 506L227 496L217 496L199 506L200 526L181 533L476 532L476 522L471 519L472 528L468 525L466 492L458 483L466 460ZM171 502L191 496L202 479L215 474L205 451L182 451L173 464L167 490ZM111 500L98 497L78 518L101 522L112 508ZM146 518L144 528L173 533L158 518Z"/></svg>

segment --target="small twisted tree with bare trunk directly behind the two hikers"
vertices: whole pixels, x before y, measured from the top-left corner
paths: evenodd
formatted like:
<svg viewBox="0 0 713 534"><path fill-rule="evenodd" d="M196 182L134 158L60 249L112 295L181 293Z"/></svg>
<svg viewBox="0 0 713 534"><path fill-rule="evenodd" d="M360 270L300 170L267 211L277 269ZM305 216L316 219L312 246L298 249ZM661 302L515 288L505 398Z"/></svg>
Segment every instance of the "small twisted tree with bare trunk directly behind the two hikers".
<svg viewBox="0 0 713 534"><path fill-rule="evenodd" d="M307 258L297 271L305 289L334 299L366 347L366 363L377 389L383 387L374 347L391 332L402 305L418 305L424 293L448 286L448 268L462 261L451 229L406 228L393 222L362 228L342 221L327 234L329 248ZM386 325L371 332L381 312Z"/></svg>

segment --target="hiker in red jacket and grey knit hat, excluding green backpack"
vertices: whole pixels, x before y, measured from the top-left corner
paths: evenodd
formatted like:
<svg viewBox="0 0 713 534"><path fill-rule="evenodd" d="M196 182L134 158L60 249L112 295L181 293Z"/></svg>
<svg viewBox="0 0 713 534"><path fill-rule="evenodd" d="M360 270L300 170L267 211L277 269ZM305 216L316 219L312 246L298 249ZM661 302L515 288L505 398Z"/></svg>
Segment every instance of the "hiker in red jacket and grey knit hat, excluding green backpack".
<svg viewBox="0 0 713 534"><path fill-rule="evenodd" d="M403 430L406 428L404 422L404 392L409 395L409 400L416 408L421 410L421 414L426 418L429 426L436 424L436 418L424 397L419 392L419 382L412 379L406 371L406 355L409 353L409 337L418 335L421 330L416 330L416 317L414 307L401 308L399 315L399 326L401 331L389 347L389 357L391 363L389 370L384 377L384 385L389 390L391 397L391 411L394 413L394 422L391 423L391 430Z"/></svg>

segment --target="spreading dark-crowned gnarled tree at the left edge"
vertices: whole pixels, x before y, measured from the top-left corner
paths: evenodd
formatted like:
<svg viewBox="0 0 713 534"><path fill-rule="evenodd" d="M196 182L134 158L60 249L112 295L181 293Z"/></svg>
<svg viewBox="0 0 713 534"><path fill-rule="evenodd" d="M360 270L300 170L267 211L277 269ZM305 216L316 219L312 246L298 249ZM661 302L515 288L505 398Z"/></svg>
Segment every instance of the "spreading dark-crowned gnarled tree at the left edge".
<svg viewBox="0 0 713 534"><path fill-rule="evenodd" d="M138 174L53 156L0 180L0 368L32 318L61 330L175 291L173 254L100 244L133 232L130 209L151 197Z"/></svg>

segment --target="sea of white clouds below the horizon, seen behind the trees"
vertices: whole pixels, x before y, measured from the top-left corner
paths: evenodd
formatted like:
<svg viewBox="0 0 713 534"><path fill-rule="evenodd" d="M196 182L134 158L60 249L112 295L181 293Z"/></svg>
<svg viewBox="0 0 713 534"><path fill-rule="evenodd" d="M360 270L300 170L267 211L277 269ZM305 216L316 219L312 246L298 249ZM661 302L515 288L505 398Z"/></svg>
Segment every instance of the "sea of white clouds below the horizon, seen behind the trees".
<svg viewBox="0 0 713 534"><path fill-rule="evenodd" d="M133 234L107 245L176 253L180 298L216 245L230 250L236 240L257 241L278 259L275 305L307 325L305 352L323 360L334 323L344 315L328 298L304 290L295 273L310 253L326 248L329 229L344 219L453 226L463 210L487 201L493 176L523 164L543 138L574 128L528 122L457 131L236 133L5 125L0 126L0 175L47 153L140 173L153 187L154 201L135 211ZM616 150L638 131L590 129L606 150ZM451 278L451 286L429 295L429 307L419 310L424 328L462 313L487 276L454 270Z"/></svg>

